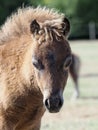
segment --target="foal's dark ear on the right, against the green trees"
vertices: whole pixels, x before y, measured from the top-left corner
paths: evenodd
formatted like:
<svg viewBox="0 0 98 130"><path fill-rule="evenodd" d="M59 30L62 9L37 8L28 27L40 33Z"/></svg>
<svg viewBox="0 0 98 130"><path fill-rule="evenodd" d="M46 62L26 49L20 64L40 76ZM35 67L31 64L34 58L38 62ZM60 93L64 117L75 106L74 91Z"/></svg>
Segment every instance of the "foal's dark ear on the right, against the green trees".
<svg viewBox="0 0 98 130"><path fill-rule="evenodd" d="M63 29L63 34L65 36L67 36L69 31L70 31L70 22L69 22L69 20L67 18L63 19L62 29Z"/></svg>

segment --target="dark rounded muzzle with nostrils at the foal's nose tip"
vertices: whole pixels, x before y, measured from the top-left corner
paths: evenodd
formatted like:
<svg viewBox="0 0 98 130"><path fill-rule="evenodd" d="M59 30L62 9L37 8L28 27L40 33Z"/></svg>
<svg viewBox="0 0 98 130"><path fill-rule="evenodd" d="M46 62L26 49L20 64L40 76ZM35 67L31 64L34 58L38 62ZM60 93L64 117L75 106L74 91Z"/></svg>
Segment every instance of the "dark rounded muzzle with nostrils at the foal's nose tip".
<svg viewBox="0 0 98 130"><path fill-rule="evenodd" d="M63 98L59 96L51 96L44 100L46 109L51 113L59 112L63 105Z"/></svg>

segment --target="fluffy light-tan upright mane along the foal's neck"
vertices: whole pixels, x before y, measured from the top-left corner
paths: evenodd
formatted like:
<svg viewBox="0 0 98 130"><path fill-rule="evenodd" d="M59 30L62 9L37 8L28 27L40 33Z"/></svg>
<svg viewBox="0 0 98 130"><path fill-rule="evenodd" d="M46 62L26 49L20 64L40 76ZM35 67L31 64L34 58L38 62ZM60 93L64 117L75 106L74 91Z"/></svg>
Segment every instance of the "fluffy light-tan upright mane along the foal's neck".
<svg viewBox="0 0 98 130"><path fill-rule="evenodd" d="M5 24L1 26L0 44L3 44L15 37L29 33L30 23L34 19L41 23L49 22L50 24L53 24L52 21L61 23L63 18L63 14L60 14L57 11L48 9L46 7L19 8L17 12L7 18Z"/></svg>

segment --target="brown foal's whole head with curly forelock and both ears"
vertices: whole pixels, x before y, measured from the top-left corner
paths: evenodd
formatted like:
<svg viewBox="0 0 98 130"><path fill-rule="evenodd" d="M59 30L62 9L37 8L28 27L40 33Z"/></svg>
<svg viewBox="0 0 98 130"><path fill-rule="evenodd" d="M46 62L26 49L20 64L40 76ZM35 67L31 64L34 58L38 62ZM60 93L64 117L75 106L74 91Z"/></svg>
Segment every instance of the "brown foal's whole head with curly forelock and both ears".
<svg viewBox="0 0 98 130"><path fill-rule="evenodd" d="M33 20L30 25L34 44L32 64L49 112L58 112L63 104L63 90L71 63L71 49L66 40L69 29L66 18L61 23Z"/></svg>

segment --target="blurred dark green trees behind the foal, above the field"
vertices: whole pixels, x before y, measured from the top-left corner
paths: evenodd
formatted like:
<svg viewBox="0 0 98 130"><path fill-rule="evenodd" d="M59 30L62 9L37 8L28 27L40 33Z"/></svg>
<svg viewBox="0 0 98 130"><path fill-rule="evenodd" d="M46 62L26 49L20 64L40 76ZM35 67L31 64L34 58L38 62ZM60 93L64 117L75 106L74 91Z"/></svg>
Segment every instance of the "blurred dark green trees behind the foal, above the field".
<svg viewBox="0 0 98 130"><path fill-rule="evenodd" d="M38 5L63 12L71 23L69 39L98 38L98 0L0 0L0 25L19 7Z"/></svg>

